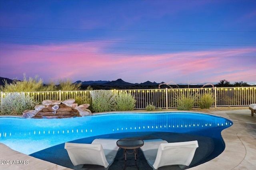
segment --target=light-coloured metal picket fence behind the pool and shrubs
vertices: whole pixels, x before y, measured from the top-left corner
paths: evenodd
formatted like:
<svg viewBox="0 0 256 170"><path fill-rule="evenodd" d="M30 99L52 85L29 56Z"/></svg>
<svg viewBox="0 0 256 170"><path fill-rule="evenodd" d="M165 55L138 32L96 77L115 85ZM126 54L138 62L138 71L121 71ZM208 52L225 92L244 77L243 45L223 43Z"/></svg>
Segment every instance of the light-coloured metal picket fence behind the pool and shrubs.
<svg viewBox="0 0 256 170"><path fill-rule="evenodd" d="M214 96L212 107L219 106L248 106L256 103L256 87L227 87L227 88L165 88L165 89L138 89L138 90L112 90L113 92L128 92L136 100L135 109L146 109L147 104L152 104L156 108L168 109L176 108L176 96L180 94L191 94L198 98L200 94L210 93ZM67 100L76 99L91 101L90 92L82 91L55 91L55 92L24 92L42 103L43 100ZM10 93L1 92L1 101ZM1 102L2 104L2 102ZM194 107L198 107L197 104Z"/></svg>

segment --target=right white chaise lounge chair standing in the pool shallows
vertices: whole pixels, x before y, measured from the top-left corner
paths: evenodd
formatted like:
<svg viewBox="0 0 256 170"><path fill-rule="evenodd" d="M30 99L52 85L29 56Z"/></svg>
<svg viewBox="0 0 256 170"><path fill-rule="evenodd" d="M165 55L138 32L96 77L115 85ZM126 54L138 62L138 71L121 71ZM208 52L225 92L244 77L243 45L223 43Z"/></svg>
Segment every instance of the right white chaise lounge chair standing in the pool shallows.
<svg viewBox="0 0 256 170"><path fill-rule="evenodd" d="M159 167L179 165L189 166L198 148L197 141L168 143L162 139L145 140L140 148L148 164L157 170Z"/></svg>

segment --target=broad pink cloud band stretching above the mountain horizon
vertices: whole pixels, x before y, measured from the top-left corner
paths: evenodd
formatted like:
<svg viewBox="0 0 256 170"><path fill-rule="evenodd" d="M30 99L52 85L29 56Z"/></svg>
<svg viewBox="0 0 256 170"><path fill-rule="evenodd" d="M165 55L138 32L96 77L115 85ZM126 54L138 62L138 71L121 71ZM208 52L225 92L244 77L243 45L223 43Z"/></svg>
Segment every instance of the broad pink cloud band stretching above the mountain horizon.
<svg viewBox="0 0 256 170"><path fill-rule="evenodd" d="M93 47L81 48L74 46ZM20 76L19 78L22 78L23 73L28 76L38 74L45 82L50 78L55 80L69 78L73 81L116 80L117 78L122 78L132 83L140 83L147 80L198 83L206 81L218 82L222 79L255 82L252 78L255 77L255 58L206 57L250 55L248 51L242 51L249 50L248 48L236 49L241 51L166 53L165 55L168 57L163 57L162 55L104 55L104 49L96 48L97 46L104 47L104 43L83 42L70 44L68 47L15 45L12 48L34 49L37 51L1 50L0 76L8 78ZM47 53L43 51L75 51L78 53Z"/></svg>

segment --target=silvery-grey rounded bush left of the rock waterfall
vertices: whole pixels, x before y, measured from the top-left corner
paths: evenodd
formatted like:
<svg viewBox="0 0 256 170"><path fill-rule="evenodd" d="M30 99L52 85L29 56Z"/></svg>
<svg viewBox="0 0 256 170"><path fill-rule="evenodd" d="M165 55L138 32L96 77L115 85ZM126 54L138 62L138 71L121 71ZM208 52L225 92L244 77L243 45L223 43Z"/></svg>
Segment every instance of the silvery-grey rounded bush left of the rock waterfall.
<svg viewBox="0 0 256 170"><path fill-rule="evenodd" d="M7 94L1 101L2 114L20 115L26 109L33 109L36 104L38 103L24 93Z"/></svg>

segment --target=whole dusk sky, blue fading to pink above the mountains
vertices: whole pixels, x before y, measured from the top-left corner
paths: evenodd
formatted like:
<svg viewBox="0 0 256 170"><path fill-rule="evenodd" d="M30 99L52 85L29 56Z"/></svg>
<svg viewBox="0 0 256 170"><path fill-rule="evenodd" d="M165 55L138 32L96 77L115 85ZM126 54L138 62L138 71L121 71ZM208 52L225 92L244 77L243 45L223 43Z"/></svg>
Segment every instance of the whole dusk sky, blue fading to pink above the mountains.
<svg viewBox="0 0 256 170"><path fill-rule="evenodd" d="M0 0L0 77L256 84L256 0Z"/></svg>

